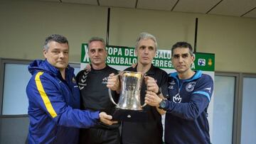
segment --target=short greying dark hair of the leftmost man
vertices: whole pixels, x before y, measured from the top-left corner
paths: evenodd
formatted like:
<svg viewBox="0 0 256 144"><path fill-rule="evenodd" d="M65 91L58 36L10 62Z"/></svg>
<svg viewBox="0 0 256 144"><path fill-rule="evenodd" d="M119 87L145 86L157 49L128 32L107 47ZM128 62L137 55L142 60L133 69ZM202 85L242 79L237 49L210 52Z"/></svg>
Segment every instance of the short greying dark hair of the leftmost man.
<svg viewBox="0 0 256 144"><path fill-rule="evenodd" d="M68 40L67 38L65 38L65 36L63 35L58 35L58 34L53 34L50 35L46 38L46 41L43 45L43 50L48 50L49 49L49 43L55 41L57 43L67 43L68 44Z"/></svg>

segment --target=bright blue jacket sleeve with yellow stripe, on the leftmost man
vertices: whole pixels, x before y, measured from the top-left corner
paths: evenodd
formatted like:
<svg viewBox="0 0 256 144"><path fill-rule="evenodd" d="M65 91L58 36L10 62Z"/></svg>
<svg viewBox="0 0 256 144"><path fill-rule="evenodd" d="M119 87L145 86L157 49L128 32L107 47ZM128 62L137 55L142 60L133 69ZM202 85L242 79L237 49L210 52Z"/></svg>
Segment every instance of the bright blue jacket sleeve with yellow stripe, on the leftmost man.
<svg viewBox="0 0 256 144"><path fill-rule="evenodd" d="M28 83L26 92L30 104L28 112L33 111L38 122L47 114L58 126L87 128L99 119L99 111L82 111L68 106L58 82L49 74L38 72Z"/></svg>

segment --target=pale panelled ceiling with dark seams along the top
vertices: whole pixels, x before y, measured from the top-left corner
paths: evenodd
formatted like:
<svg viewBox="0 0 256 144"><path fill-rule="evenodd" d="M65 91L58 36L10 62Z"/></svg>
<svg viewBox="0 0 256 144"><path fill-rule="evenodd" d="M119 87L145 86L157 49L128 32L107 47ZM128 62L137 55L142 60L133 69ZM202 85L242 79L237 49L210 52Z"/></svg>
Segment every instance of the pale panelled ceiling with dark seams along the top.
<svg viewBox="0 0 256 144"><path fill-rule="evenodd" d="M40 0L256 18L256 0Z"/></svg>

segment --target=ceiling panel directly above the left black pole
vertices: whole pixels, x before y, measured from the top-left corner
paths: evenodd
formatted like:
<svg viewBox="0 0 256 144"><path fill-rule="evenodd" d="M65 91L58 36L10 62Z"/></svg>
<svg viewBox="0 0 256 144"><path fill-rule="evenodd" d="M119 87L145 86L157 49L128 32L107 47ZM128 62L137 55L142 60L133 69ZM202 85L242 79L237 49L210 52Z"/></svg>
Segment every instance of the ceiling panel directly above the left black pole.
<svg viewBox="0 0 256 144"><path fill-rule="evenodd" d="M136 0L99 0L99 1L100 1L100 6L117 6L117 7L123 7L123 8L135 8L135 4L136 4Z"/></svg>

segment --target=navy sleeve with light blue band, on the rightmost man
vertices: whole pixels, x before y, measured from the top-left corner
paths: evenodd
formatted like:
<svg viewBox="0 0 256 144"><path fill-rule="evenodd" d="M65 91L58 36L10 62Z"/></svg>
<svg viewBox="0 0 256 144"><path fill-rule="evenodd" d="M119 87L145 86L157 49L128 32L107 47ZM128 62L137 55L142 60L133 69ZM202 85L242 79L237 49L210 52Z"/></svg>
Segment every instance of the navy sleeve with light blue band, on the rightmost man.
<svg viewBox="0 0 256 144"><path fill-rule="evenodd" d="M190 101L186 103L175 103L168 101L166 104L167 113L187 120L194 120L206 111L210 103L210 97L213 94L213 79L204 75L199 79L198 84L191 93Z"/></svg>

